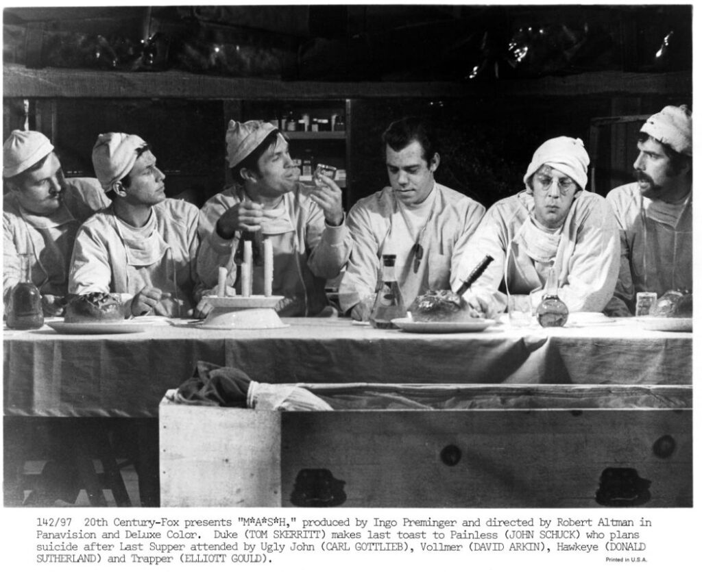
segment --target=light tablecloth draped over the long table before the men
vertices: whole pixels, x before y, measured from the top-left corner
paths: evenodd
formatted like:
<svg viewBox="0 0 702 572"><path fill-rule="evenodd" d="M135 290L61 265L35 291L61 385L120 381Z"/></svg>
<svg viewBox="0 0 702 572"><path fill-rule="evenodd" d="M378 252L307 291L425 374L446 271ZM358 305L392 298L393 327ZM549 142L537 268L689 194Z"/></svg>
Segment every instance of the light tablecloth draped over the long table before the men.
<svg viewBox="0 0 702 572"><path fill-rule="evenodd" d="M692 333L635 319L479 333L376 330L349 319L285 319L268 330L208 330L145 319L138 333L4 332L4 413L152 417L198 360L265 383L691 385Z"/></svg>

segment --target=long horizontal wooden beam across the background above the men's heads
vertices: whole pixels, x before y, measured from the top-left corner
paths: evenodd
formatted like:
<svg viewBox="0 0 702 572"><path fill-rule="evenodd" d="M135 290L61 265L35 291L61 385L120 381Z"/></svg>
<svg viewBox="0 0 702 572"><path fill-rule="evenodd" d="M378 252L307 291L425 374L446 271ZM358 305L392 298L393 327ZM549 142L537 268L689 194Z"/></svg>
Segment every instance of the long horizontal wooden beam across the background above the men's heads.
<svg viewBox="0 0 702 572"><path fill-rule="evenodd" d="M588 72L484 83L453 81L282 81L187 72L108 72L3 66L6 98L333 99L470 95L635 95L691 93L692 72Z"/></svg>

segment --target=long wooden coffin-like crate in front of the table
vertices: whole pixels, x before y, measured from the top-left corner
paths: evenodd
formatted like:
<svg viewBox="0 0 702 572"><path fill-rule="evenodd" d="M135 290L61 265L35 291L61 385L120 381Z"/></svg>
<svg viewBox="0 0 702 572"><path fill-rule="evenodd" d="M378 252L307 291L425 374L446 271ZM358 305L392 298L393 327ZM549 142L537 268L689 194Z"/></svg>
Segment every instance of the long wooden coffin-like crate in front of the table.
<svg viewBox="0 0 702 572"><path fill-rule="evenodd" d="M689 507L691 408L159 408L161 505Z"/></svg>

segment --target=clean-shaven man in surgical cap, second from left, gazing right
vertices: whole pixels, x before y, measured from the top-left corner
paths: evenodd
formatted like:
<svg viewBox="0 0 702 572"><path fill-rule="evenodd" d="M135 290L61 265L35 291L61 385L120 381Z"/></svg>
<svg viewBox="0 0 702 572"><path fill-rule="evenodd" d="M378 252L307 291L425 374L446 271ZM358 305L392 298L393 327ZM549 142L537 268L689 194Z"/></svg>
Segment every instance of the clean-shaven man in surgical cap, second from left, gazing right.
<svg viewBox="0 0 702 572"><path fill-rule="evenodd" d="M125 317L191 315L199 293L198 209L166 198L166 177L138 135L99 135L93 167L112 205L78 232L69 292L119 294Z"/></svg>

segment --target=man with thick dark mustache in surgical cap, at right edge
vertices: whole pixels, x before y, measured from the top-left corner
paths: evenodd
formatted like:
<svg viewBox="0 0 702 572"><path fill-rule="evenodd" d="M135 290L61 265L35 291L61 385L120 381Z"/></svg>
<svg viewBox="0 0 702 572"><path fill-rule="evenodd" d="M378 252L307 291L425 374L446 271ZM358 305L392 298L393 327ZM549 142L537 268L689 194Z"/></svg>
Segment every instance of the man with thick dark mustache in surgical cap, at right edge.
<svg viewBox="0 0 702 572"><path fill-rule="evenodd" d="M692 290L692 114L668 105L642 126L637 182L607 201L621 237L621 266L607 313L635 313L636 295Z"/></svg>

